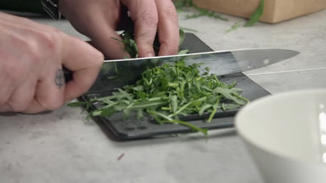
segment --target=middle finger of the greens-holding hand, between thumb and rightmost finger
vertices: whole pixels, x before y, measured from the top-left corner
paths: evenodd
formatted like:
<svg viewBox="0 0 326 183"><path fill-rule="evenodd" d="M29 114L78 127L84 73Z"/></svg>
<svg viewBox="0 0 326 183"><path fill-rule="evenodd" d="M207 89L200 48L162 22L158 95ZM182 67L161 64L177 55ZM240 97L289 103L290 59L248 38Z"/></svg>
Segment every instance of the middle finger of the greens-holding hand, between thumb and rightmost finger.
<svg viewBox="0 0 326 183"><path fill-rule="evenodd" d="M122 1L129 8L134 21L135 40L139 57L153 57L153 43L157 33L157 8L154 0Z"/></svg>

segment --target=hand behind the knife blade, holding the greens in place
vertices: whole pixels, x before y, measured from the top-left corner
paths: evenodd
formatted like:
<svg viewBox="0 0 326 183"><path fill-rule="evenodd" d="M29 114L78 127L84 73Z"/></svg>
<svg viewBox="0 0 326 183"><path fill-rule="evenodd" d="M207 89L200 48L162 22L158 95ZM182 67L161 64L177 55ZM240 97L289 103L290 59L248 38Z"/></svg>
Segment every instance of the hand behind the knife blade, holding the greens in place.
<svg viewBox="0 0 326 183"><path fill-rule="evenodd" d="M158 32L159 55L178 53L178 14L170 0L61 0L62 14L80 33L91 38L93 45L108 58L127 56L123 45L111 37L125 26L127 12L134 21L135 40L139 57L154 56L153 42Z"/></svg>

